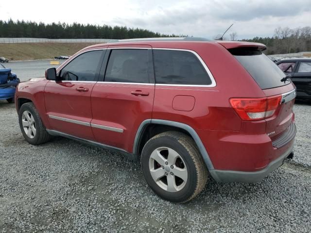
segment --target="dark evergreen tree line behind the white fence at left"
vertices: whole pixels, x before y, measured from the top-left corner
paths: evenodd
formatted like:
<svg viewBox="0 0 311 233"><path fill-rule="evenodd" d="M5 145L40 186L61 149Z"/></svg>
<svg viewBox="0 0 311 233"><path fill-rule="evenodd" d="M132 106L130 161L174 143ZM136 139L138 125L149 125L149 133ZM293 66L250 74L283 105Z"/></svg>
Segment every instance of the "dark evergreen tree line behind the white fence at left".
<svg viewBox="0 0 311 233"><path fill-rule="evenodd" d="M131 39L146 37L178 37L182 35L161 34L141 28L125 26L91 25L80 23L36 23L0 20L0 37L28 37L48 39Z"/></svg>

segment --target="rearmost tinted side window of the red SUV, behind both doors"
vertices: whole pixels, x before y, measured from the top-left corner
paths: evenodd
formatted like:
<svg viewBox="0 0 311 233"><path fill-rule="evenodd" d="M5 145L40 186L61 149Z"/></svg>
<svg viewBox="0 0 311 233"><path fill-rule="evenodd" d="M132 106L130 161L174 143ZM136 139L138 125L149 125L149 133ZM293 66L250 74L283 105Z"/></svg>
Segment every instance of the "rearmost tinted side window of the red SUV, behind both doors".
<svg viewBox="0 0 311 233"><path fill-rule="evenodd" d="M206 69L192 52L153 51L156 83L188 85L209 85L212 83Z"/></svg>

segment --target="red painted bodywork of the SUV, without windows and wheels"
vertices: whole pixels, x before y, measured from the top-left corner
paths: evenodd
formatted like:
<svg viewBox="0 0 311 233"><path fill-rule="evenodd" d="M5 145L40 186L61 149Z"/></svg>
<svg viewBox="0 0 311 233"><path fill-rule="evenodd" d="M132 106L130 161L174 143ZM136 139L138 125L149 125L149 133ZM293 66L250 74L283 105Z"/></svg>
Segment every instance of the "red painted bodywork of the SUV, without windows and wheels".
<svg viewBox="0 0 311 233"><path fill-rule="evenodd" d="M264 98L294 89L294 85L290 83L261 90L227 50L238 47L264 48L264 45L214 41L109 44L109 48L118 46L193 50L207 64L217 85L185 87L104 82L70 83L39 79L37 82L20 83L16 100L25 98L33 101L47 129L130 153L133 152L135 136L142 121L163 119L187 124L199 135L214 168L219 170L258 171L293 145L294 139L286 146L276 149L272 146L272 140L294 122L294 100L280 104L272 117L258 121L241 120L229 103L229 99L233 97ZM101 48L107 48L107 45L90 46L79 51L60 66L57 72L79 53ZM78 92L77 87L88 88L88 91ZM133 91L143 91L148 95L133 95ZM114 127L122 129L123 133L59 121L49 118L48 115ZM268 136L267 133L270 132L276 133Z"/></svg>

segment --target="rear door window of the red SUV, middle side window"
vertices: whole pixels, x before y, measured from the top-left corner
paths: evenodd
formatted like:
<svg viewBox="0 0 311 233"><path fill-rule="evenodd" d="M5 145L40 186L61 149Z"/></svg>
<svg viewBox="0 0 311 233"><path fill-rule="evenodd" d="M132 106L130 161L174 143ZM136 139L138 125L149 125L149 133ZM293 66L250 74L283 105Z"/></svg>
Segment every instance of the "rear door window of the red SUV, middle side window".
<svg viewBox="0 0 311 233"><path fill-rule="evenodd" d="M111 50L105 82L150 83L148 50Z"/></svg>

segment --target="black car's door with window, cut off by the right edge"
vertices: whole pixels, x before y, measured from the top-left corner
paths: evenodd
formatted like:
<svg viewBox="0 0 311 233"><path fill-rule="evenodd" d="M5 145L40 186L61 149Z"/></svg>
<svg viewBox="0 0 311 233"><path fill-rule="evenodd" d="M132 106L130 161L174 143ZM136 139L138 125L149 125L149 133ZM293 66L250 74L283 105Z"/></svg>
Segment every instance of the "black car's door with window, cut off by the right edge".
<svg viewBox="0 0 311 233"><path fill-rule="evenodd" d="M292 78L297 87L297 97L311 97L311 61L301 61Z"/></svg>

